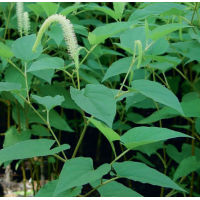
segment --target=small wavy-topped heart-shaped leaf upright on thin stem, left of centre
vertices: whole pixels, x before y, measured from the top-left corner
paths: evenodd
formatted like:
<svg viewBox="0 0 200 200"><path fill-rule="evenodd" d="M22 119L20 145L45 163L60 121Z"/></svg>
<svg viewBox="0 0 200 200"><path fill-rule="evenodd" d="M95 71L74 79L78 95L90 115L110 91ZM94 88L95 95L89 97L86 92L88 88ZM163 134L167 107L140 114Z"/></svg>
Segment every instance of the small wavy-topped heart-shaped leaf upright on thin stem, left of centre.
<svg viewBox="0 0 200 200"><path fill-rule="evenodd" d="M31 97L35 99L39 104L42 104L48 111L58 105L61 105L61 103L65 100L64 97L60 95L56 95L55 97L39 97L37 95L31 95Z"/></svg>

